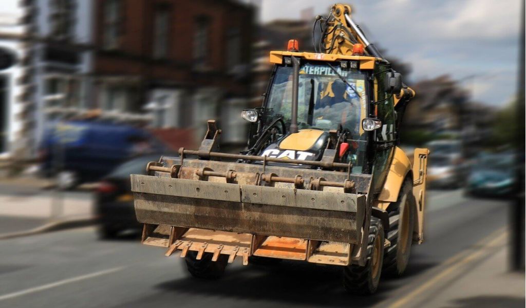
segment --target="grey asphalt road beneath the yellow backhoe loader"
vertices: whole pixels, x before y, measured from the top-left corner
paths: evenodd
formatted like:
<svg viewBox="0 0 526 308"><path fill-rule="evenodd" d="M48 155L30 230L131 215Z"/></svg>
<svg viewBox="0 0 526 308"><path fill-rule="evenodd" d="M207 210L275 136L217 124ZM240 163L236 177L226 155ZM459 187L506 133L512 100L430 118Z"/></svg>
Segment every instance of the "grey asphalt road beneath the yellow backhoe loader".
<svg viewBox="0 0 526 308"><path fill-rule="evenodd" d="M0 307L385 306L507 224L507 201L467 199L461 190L428 197L426 242L413 248L407 274L382 279L373 296L350 296L340 269L304 262L236 260L224 278L201 281L178 255L166 258L134 237L100 241L90 227L0 241Z"/></svg>

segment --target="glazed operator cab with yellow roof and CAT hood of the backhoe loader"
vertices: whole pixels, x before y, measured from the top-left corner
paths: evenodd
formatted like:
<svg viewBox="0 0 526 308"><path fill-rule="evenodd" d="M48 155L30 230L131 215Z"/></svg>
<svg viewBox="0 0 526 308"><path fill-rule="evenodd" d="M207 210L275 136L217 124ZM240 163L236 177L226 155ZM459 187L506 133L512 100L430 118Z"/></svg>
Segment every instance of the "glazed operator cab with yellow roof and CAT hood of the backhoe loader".
<svg viewBox="0 0 526 308"><path fill-rule="evenodd" d="M275 67L263 106L242 113L248 121L257 122L251 128L249 149L242 153L319 161L332 131L340 142L336 160L352 163L352 173L370 173L370 141L395 140L393 95L386 86L390 65L370 56L299 52L271 52L270 60ZM299 61L296 67L294 61Z"/></svg>

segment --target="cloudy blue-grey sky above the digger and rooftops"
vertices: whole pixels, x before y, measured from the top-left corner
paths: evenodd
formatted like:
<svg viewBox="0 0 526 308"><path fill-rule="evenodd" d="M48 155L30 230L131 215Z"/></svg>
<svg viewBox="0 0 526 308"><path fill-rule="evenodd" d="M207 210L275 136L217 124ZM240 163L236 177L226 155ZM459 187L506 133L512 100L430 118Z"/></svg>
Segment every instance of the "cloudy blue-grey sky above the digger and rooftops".
<svg viewBox="0 0 526 308"><path fill-rule="evenodd" d="M259 19L300 18L313 7L327 15L335 0L261 0ZM409 80L450 75L474 100L493 106L515 95L520 0L359 0L351 17L368 39L388 50L386 58L410 63ZM522 25L524 26L524 25ZM300 46L301 47L301 46ZM407 80L406 80L407 81ZM418 94L417 94L418 95Z"/></svg>

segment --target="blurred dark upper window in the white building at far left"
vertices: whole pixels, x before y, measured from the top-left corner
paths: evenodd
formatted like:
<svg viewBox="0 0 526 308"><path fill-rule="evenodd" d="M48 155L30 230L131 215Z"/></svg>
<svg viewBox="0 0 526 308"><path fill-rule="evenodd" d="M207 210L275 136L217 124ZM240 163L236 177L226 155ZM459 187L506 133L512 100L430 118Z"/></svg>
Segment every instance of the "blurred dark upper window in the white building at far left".
<svg viewBox="0 0 526 308"><path fill-rule="evenodd" d="M51 0L49 11L50 35L57 39L71 38L75 25L75 1Z"/></svg>

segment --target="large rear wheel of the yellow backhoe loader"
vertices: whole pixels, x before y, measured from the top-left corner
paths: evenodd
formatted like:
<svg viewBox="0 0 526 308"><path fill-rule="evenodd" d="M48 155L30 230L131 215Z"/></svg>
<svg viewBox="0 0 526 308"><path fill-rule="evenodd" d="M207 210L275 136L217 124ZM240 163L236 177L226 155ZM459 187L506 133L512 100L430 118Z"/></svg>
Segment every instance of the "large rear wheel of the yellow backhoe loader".
<svg viewBox="0 0 526 308"><path fill-rule="evenodd" d="M398 277L407 268L413 242L415 200L410 179L403 182L398 200L387 210L389 211L387 239L391 245L386 248L383 272Z"/></svg>

